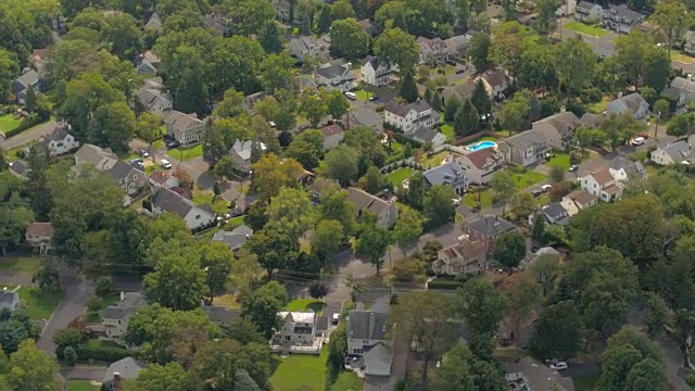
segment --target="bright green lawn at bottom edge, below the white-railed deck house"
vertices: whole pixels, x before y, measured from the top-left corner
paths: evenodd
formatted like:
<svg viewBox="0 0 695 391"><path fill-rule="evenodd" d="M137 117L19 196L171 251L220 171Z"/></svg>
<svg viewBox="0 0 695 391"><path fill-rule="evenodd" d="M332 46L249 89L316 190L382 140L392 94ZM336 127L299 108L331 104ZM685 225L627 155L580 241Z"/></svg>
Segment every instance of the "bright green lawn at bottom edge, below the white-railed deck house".
<svg viewBox="0 0 695 391"><path fill-rule="evenodd" d="M295 354L278 358L280 364L270 377L275 391L316 391L326 389L328 349L320 356Z"/></svg>

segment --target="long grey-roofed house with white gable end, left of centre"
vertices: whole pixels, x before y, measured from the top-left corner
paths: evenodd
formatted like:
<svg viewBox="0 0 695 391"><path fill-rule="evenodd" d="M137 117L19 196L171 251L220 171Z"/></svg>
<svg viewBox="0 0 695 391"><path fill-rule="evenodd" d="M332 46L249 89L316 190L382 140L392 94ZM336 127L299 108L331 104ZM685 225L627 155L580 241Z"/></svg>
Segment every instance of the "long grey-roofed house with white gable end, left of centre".
<svg viewBox="0 0 695 391"><path fill-rule="evenodd" d="M150 209L143 206L143 210L155 217L164 212L175 213L186 222L190 230L200 230L216 224L215 212L210 204L195 205L193 201L164 188L153 190Z"/></svg>

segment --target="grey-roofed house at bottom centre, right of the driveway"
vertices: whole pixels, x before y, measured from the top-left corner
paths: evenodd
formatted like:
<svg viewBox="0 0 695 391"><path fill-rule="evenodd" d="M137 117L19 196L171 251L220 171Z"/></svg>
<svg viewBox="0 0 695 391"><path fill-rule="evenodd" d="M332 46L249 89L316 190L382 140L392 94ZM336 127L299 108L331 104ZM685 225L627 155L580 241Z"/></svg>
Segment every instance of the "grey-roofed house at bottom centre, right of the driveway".
<svg viewBox="0 0 695 391"><path fill-rule="evenodd" d="M348 356L362 358L366 375L389 376L393 361L390 332L388 303L379 301L369 310L357 303L345 324Z"/></svg>

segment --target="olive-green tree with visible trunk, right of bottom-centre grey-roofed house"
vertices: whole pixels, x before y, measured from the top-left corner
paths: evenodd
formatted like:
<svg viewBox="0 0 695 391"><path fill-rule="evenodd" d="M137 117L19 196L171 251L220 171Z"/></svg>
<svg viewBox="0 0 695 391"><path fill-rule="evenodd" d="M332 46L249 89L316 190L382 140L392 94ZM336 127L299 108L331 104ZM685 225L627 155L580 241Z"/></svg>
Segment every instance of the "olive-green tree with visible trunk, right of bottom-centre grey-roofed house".
<svg viewBox="0 0 695 391"><path fill-rule="evenodd" d="M427 387L430 360L439 357L451 346L455 327L450 321L451 300L439 292L413 292L401 297L391 312L390 325L404 343L417 341L422 355L422 387Z"/></svg>

